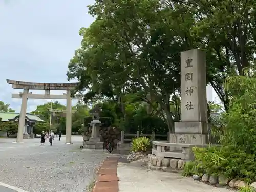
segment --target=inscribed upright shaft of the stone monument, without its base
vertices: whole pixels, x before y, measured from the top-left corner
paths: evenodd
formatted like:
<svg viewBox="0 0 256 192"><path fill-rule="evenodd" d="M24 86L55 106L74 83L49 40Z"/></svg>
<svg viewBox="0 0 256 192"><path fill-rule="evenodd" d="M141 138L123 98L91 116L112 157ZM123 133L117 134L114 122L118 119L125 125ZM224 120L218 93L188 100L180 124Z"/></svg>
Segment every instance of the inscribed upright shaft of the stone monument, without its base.
<svg viewBox="0 0 256 192"><path fill-rule="evenodd" d="M181 52L181 121L206 122L205 53L199 49Z"/></svg>

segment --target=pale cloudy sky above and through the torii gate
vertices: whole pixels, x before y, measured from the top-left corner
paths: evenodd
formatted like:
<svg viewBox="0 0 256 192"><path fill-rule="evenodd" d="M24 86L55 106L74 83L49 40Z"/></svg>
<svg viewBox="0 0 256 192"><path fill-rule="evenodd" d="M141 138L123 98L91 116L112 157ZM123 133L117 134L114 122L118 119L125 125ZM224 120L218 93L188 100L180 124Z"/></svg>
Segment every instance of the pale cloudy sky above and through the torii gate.
<svg viewBox="0 0 256 192"><path fill-rule="evenodd" d="M94 0L0 0L0 101L20 111L21 99L12 99L11 94L22 90L12 89L6 79L68 82L68 64L81 42L79 29L89 27L94 20L87 9L93 3ZM27 112L46 102L51 100L28 99Z"/></svg>

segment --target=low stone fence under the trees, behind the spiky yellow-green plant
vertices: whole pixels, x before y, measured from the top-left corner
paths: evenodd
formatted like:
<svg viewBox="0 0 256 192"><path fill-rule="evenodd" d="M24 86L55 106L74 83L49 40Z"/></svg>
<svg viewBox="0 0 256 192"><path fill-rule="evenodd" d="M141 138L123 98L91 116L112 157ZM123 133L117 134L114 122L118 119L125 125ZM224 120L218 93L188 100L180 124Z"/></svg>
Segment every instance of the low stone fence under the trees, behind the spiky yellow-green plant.
<svg viewBox="0 0 256 192"><path fill-rule="evenodd" d="M125 137L132 137L132 138L125 138ZM143 134L139 131L137 131L135 134L133 133L124 133L124 131L121 131L121 141L120 143L124 143L125 141L131 142L133 138L138 138L138 137L151 137L151 140L154 141L156 137L160 138L167 138L167 141L169 141L170 134L169 132L167 134L155 134L155 132L152 132L152 134ZM164 139L160 139L164 140Z"/></svg>

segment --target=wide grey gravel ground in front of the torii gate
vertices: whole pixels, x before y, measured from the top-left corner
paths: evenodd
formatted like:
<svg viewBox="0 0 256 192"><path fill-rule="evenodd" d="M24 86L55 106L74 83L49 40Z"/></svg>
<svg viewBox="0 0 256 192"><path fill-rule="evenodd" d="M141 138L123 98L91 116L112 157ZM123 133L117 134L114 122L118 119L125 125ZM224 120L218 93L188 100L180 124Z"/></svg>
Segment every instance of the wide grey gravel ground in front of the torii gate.
<svg viewBox="0 0 256 192"><path fill-rule="evenodd" d="M73 145L62 141L39 146L39 138L12 143L0 138L0 182L28 192L82 192L94 177L94 168L106 158L101 150L79 150L81 137Z"/></svg>

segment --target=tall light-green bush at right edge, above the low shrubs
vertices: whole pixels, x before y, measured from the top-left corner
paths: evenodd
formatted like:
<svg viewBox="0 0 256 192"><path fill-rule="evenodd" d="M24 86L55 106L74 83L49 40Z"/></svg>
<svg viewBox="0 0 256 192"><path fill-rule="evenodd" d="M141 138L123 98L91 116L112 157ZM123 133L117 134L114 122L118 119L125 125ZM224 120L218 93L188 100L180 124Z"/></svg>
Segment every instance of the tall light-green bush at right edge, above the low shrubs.
<svg viewBox="0 0 256 192"><path fill-rule="evenodd" d="M244 71L245 76L226 80L226 89L232 95L228 112L223 114L225 129L220 137L224 145L232 145L248 154L256 152L256 76L255 69Z"/></svg>

